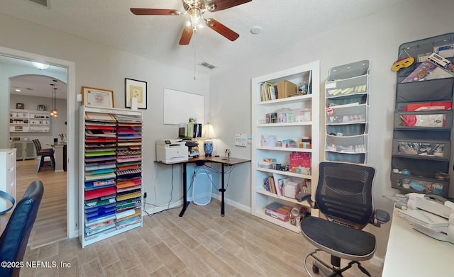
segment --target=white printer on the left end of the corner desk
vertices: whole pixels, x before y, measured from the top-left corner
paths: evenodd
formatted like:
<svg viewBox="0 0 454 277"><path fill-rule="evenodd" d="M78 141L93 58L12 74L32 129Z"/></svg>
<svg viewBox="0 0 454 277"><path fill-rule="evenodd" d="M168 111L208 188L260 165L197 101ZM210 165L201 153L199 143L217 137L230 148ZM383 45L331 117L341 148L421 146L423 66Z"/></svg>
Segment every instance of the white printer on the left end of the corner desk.
<svg viewBox="0 0 454 277"><path fill-rule="evenodd" d="M156 140L156 161L166 164L188 160L188 147L183 140Z"/></svg>

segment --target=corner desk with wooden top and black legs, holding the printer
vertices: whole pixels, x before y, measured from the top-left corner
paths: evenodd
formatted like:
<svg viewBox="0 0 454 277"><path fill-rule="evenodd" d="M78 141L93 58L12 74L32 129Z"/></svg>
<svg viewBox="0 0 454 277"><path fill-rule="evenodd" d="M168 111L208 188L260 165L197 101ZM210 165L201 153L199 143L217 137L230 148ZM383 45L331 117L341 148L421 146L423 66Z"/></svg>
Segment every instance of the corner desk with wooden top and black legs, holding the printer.
<svg viewBox="0 0 454 277"><path fill-rule="evenodd" d="M168 164L183 164L183 208L182 211L179 213L179 216L182 217L184 212L189 206L189 201L187 200L187 164L197 164L197 165L204 165L207 162L214 162L216 164L221 164L221 188L219 191L221 192L221 216L225 214L225 203L224 203L224 193L226 192L226 188L224 187L224 174L225 174L225 166L233 166L236 164L243 164L245 162L250 162L250 159L237 159L237 158L230 158L224 159L221 157L197 157L193 159L189 159L184 162L173 162ZM158 162L160 164L167 164Z"/></svg>

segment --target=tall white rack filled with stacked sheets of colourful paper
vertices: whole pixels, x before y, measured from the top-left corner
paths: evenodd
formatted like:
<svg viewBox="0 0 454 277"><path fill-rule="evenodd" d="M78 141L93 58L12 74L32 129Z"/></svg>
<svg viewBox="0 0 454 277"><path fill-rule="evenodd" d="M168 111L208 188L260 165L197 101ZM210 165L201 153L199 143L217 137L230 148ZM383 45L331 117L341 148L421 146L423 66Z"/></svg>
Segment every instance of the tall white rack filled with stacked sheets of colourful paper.
<svg viewBox="0 0 454 277"><path fill-rule="evenodd" d="M142 226L142 113L80 110L79 240L82 248Z"/></svg>

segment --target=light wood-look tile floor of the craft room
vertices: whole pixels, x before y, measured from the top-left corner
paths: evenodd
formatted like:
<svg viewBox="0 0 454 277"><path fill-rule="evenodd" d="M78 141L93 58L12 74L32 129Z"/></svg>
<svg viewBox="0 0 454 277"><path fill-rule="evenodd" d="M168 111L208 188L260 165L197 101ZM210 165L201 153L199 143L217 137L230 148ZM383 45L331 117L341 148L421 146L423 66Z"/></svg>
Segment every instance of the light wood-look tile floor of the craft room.
<svg viewBox="0 0 454 277"><path fill-rule="evenodd" d="M55 262L59 268L25 267L21 277L38 276L309 276L302 261L314 249L301 234L220 203L191 203L143 217L143 227L84 249L65 239L27 249L24 261ZM329 261L329 260L328 260ZM382 268L362 262L372 276ZM344 276L362 276L356 268Z"/></svg>

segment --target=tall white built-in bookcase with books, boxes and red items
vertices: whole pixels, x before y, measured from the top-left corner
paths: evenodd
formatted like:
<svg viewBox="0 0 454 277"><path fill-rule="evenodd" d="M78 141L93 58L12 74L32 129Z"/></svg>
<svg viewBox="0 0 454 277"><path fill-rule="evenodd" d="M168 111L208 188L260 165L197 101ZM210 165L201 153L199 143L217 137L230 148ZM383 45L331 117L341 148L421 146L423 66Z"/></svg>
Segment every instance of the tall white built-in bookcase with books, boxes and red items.
<svg viewBox="0 0 454 277"><path fill-rule="evenodd" d="M294 85L301 91L295 93ZM297 224L292 225L291 220L282 221L280 217L267 215L265 207L275 202L298 209L306 205L294 197L288 197L294 193L294 183L299 185L297 188L304 186L301 190L312 193L314 200L319 181L320 156L319 61L256 77L252 79L251 86L251 212L264 220L299 232ZM269 90L269 87L272 89ZM292 91L287 91L288 88ZM276 90L277 96L274 95ZM269 97L267 94L272 95ZM294 96L287 97L289 95ZM287 196L283 195L284 190L270 189L270 184L267 184L270 179L275 183L283 179L291 181ZM288 195L289 191L291 195ZM318 211L312 210L311 215L317 216Z"/></svg>

